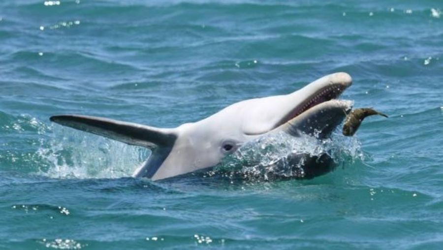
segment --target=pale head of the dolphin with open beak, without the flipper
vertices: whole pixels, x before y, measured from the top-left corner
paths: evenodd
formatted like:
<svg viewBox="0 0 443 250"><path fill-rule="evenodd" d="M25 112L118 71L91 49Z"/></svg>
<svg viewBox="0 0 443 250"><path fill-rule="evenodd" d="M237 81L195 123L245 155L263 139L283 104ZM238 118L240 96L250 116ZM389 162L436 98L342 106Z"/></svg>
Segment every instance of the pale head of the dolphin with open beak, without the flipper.
<svg viewBox="0 0 443 250"><path fill-rule="evenodd" d="M269 133L301 133L326 138L346 116L348 105L335 100L351 85L347 73L324 76L288 95L241 101L194 123L176 128L177 140L155 173L149 162L135 176L164 179L220 163L242 144Z"/></svg>

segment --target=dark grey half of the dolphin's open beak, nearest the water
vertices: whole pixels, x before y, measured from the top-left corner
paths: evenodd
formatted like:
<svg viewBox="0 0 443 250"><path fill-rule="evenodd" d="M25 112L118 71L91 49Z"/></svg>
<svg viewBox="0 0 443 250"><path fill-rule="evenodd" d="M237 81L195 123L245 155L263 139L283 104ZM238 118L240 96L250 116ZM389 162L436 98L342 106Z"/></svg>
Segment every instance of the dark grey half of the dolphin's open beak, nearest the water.
<svg viewBox="0 0 443 250"><path fill-rule="evenodd" d="M331 100L306 110L278 127L292 136L301 133L316 135L319 139L327 138L332 131L345 119L350 105L340 100Z"/></svg>

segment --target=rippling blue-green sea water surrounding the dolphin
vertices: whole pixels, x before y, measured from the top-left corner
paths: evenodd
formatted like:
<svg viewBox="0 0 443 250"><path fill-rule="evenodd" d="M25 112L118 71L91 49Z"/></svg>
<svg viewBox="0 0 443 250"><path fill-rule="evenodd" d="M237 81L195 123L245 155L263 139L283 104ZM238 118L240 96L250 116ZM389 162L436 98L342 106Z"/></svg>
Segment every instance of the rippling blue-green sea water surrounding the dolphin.
<svg viewBox="0 0 443 250"><path fill-rule="evenodd" d="M133 179L148 150L49 122L175 127L337 71L389 118L312 180ZM442 86L441 0L2 0L0 249L442 249Z"/></svg>

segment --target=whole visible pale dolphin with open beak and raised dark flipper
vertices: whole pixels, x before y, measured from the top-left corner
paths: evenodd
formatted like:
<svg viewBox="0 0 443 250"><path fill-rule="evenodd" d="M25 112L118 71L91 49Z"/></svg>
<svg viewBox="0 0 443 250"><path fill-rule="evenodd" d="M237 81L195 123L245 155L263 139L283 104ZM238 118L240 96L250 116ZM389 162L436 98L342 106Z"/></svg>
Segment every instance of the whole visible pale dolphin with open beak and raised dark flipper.
<svg viewBox="0 0 443 250"><path fill-rule="evenodd" d="M176 128L155 128L84 115L56 115L50 120L151 149L152 155L133 177L158 180L215 166L243 143L268 133L284 132L292 136L316 133L319 139L329 137L350 109L349 104L334 99L351 82L344 72L326 75L293 93L241 101Z"/></svg>

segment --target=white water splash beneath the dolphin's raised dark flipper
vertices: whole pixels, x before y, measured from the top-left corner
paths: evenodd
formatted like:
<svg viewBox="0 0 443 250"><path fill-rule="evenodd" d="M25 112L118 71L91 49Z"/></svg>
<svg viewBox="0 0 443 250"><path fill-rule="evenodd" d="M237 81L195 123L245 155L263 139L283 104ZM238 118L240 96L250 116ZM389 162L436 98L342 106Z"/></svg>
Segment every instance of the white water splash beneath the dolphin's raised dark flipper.
<svg viewBox="0 0 443 250"><path fill-rule="evenodd" d="M38 173L61 179L122 178L148 158L145 148L56 125L36 152ZM43 164L41 164L43 163Z"/></svg>

